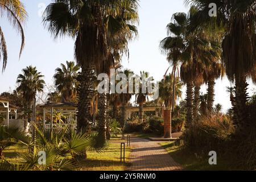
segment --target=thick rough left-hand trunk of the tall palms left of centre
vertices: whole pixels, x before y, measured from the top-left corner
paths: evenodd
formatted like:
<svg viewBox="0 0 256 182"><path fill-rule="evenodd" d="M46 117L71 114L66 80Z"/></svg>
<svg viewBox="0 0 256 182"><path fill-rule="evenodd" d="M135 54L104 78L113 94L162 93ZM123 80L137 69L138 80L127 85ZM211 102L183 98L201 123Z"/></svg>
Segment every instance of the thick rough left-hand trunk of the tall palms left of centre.
<svg viewBox="0 0 256 182"><path fill-rule="evenodd" d="M77 131L89 127L90 122L90 103L93 99L93 81L95 75L93 67L82 66L80 86L77 92Z"/></svg>

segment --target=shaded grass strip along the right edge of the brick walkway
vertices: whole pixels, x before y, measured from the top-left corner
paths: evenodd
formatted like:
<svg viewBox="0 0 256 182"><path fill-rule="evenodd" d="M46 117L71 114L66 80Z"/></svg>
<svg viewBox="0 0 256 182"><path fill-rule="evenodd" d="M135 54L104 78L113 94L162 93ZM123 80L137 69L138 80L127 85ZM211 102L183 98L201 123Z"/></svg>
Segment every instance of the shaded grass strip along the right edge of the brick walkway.
<svg viewBox="0 0 256 182"><path fill-rule="evenodd" d="M232 168L232 164L220 159L220 157L217 158L217 165L211 166L208 163L208 156L205 156L204 159L196 158L195 154L191 154L191 152L186 151L183 147L175 146L174 142L161 142L159 144L164 147L168 154L170 154L177 163L181 164L185 170L216 171L234 169Z"/></svg>

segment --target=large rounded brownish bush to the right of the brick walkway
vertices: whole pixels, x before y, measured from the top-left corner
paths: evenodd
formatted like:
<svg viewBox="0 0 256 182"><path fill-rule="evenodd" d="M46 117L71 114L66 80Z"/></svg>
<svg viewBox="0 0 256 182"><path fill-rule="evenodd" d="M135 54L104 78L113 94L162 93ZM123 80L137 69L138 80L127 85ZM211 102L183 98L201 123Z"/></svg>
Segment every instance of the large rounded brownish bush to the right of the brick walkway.
<svg viewBox="0 0 256 182"><path fill-rule="evenodd" d="M183 133L185 147L198 155L221 151L234 133L234 125L224 115L205 117Z"/></svg>

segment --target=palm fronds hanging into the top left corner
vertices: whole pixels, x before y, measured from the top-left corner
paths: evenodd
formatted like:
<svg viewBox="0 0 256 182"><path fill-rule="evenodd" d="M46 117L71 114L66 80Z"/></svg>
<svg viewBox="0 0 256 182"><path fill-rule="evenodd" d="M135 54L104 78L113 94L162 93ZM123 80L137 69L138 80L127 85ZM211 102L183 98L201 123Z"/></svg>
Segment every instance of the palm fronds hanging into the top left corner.
<svg viewBox="0 0 256 182"><path fill-rule="evenodd" d="M22 24L27 19L27 12L25 7L20 0L3 0L0 1L0 11L1 16L6 16L9 22L13 25L15 30L17 30L22 38L22 43L20 46L19 56L22 54L25 36ZM2 71L5 70L7 64L7 46L5 35L3 34L2 28L0 26L0 61L3 61Z"/></svg>

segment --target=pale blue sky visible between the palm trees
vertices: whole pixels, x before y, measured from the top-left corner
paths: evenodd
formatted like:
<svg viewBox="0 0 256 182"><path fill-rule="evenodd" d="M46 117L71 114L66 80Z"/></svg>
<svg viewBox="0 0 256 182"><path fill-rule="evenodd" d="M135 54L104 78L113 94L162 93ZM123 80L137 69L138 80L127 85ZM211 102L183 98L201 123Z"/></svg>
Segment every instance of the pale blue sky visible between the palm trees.
<svg viewBox="0 0 256 182"><path fill-rule="evenodd" d="M18 57L20 38L9 22L0 19L9 53L6 71L0 74L0 92L9 91L10 88L15 89L16 77L27 65L36 66L38 71L45 75L47 84L53 84L52 76L60 63L74 59L74 41L68 38L53 40L49 32L44 29L42 18L38 15L40 5L42 3L48 5L51 1L23 0L23 2L29 17L25 26L26 47L20 60ZM168 68L168 62L159 51L159 42L166 37L166 25L170 22L171 15L176 12L186 12L187 9L182 0L141 0L140 6L139 36L130 43L129 61L124 58L122 64L124 68L129 68L135 73L147 71L155 80L161 80ZM229 85L226 79L217 81L216 85L216 103L222 104L224 110L230 107L229 96L225 92L225 87ZM202 91L205 92L205 87Z"/></svg>

